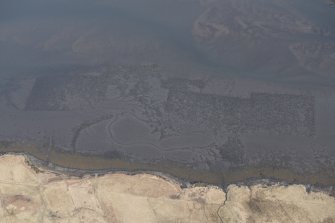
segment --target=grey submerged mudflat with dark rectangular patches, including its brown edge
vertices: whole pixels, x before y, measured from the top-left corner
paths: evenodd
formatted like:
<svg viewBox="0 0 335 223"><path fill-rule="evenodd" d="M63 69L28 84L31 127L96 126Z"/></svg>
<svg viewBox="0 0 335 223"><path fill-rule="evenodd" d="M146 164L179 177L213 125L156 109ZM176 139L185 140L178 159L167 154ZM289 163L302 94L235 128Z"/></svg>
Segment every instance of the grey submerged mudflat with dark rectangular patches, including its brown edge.
<svg viewBox="0 0 335 223"><path fill-rule="evenodd" d="M0 150L67 168L160 171L218 185L334 185L334 88L105 68L15 80L0 95Z"/></svg>

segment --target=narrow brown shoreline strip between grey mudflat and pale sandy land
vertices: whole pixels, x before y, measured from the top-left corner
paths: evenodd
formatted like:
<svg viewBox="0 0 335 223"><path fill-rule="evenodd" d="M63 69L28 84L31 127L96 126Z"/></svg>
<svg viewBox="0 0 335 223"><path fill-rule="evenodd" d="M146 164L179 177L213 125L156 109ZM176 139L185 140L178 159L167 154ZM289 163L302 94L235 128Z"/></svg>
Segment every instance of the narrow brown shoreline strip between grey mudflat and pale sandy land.
<svg viewBox="0 0 335 223"><path fill-rule="evenodd" d="M35 145L13 143L0 146L0 154L22 154L31 164L73 176L101 175L106 173L151 173L173 179L182 186L188 184L215 185L227 188L231 184L252 185L253 182L281 182L287 185L302 184L309 188L332 188L335 186L335 173L329 170L315 173L297 173L294 170L269 166L249 166L222 171L197 170L168 163L140 163L122 159L106 158L60 150L49 154ZM335 192L333 192L335 194Z"/></svg>

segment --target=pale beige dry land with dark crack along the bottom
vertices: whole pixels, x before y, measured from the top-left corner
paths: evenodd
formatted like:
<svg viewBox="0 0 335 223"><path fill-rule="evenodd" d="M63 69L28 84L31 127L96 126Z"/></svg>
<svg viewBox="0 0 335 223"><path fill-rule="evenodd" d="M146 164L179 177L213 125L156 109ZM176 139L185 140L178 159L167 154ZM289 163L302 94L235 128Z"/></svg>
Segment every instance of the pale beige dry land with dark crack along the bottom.
<svg viewBox="0 0 335 223"><path fill-rule="evenodd" d="M74 177L0 157L0 222L334 222L335 198L303 185L181 187L151 174Z"/></svg>

